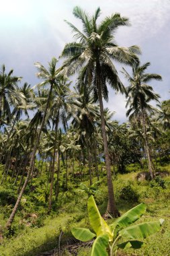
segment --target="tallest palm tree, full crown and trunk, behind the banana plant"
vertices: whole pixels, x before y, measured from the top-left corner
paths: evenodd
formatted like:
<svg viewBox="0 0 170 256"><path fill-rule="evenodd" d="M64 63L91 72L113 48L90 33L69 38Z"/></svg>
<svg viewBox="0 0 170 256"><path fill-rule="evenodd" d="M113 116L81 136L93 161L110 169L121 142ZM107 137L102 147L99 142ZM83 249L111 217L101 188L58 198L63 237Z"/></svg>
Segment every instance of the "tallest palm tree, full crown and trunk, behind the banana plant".
<svg viewBox="0 0 170 256"><path fill-rule="evenodd" d="M75 18L81 20L83 32L70 22L67 22L74 32L76 42L66 44L61 56L67 58L64 63L65 67L67 67L67 74L81 71L79 81L91 86L95 100L99 100L105 167L108 179L108 212L113 216L118 216L105 133L103 98L108 100L107 84L110 84L114 90L124 92L124 87L120 82L116 67L112 61L131 64L132 61L137 61L138 58L135 53L140 51L137 46L120 47L114 42L114 32L116 32L116 29L119 26L128 25L128 18L121 17L119 13L105 18L99 25L97 25L97 18L100 15L99 8L92 17L87 15L80 7L75 7L73 14Z"/></svg>

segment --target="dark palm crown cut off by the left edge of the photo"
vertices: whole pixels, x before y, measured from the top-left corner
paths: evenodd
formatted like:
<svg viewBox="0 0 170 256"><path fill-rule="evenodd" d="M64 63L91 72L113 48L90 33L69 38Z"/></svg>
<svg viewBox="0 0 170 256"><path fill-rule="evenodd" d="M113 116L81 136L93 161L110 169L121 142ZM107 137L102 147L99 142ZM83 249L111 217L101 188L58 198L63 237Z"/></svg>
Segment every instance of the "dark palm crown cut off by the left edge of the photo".
<svg viewBox="0 0 170 256"><path fill-rule="evenodd" d="M0 69L0 128L3 121L11 120L11 104L13 101L22 100L23 94L16 92L17 83L22 77L13 76L13 69L5 73L5 65Z"/></svg>

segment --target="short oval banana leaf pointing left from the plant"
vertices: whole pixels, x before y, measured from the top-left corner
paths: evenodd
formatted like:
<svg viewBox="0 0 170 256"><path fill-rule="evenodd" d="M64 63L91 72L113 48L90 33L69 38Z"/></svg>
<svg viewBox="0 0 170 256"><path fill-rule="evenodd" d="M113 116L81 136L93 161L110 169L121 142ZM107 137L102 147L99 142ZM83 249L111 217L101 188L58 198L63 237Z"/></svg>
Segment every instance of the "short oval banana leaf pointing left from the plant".
<svg viewBox="0 0 170 256"><path fill-rule="evenodd" d="M76 239L82 242L90 241L96 236L88 228L72 228L71 232Z"/></svg>

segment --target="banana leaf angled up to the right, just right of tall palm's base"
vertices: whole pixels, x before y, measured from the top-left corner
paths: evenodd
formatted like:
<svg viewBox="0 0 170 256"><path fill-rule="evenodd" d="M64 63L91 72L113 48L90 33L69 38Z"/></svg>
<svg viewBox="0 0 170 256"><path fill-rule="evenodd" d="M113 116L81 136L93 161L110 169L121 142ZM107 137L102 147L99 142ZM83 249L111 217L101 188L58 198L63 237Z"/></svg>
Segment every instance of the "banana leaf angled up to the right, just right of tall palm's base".
<svg viewBox="0 0 170 256"><path fill-rule="evenodd" d="M140 203L139 205L133 207L128 212L123 214L118 220L116 220L113 224L110 225L110 228L114 230L116 226L120 226L121 228L125 228L129 226L133 222L136 222L146 211L146 205L144 203Z"/></svg>

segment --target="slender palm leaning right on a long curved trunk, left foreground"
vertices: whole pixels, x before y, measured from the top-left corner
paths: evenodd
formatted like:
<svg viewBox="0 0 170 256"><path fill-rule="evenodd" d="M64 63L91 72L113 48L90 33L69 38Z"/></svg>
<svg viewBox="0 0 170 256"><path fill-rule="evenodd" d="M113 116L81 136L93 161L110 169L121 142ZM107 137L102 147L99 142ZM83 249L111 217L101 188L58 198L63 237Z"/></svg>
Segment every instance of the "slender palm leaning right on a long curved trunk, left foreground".
<svg viewBox="0 0 170 256"><path fill-rule="evenodd" d="M37 148L38 148L38 145L40 143L40 136L41 136L41 133L42 133L42 129L44 127L44 124L46 122L46 114L47 114L47 110L48 110L48 106L49 106L49 103L50 103L50 97L51 97L51 94L52 94L52 89L54 86L56 86L56 82L57 82L57 79L60 78L60 68L59 69L56 69L56 63L57 63L57 60L55 58L52 58L52 61L50 61L49 64L49 67L48 69L46 69L41 63L35 63L35 66L36 68L38 69L38 77L41 78L41 79L44 79L43 82L41 82L40 84L38 84L38 86L50 86L50 90L49 90L49 93L48 93L48 99L46 101L46 107L44 109L44 115L43 115L43 118L42 118L42 123L40 125L40 129L38 131L38 135L36 137L36 141L34 141L34 147L33 147L33 150L32 150L32 154L31 154L31 158L30 158L30 168L28 170L28 174L27 174L27 177L26 177L26 181L24 182L24 185L19 193L19 196L17 198L17 201L15 203L15 206L13 207L13 211L11 212L11 215L9 216L9 219L7 220L7 224L6 226L9 227L11 226L11 223L13 222L13 218L15 216L15 213L17 211L17 207L22 199L22 195L26 189L26 185L28 184L28 181L30 179L30 174L32 173L32 170L34 168L34 158L36 156L36 151L37 151Z"/></svg>

